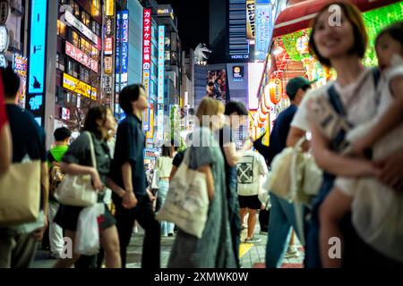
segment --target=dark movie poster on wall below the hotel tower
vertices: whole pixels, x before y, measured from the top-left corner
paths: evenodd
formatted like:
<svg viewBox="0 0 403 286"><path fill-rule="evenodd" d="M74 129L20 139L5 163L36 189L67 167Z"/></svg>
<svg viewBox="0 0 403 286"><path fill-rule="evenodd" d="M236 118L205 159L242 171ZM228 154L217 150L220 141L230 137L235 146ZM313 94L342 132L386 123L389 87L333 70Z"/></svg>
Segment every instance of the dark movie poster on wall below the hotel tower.
<svg viewBox="0 0 403 286"><path fill-rule="evenodd" d="M227 74L225 70L207 71L206 96L222 101L227 100Z"/></svg>

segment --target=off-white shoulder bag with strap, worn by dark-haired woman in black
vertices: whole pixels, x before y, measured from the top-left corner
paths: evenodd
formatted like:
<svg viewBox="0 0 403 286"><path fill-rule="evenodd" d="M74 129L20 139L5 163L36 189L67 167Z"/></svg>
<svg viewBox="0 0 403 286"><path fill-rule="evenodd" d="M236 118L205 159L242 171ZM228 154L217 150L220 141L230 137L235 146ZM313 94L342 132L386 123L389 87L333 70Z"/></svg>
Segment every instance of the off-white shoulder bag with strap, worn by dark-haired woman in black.
<svg viewBox="0 0 403 286"><path fill-rule="evenodd" d="M87 134L90 139L92 166L97 169L92 136L88 131L86 131L85 134ZM98 201L98 192L92 187L90 175L67 174L57 187L55 198L66 206L92 206Z"/></svg>

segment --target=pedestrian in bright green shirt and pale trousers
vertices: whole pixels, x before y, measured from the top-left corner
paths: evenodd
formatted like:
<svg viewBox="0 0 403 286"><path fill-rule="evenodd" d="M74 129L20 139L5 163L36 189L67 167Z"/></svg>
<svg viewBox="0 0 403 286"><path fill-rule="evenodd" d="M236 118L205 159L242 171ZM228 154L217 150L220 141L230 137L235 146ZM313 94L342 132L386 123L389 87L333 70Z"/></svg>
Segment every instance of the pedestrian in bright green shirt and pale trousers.
<svg viewBox="0 0 403 286"><path fill-rule="evenodd" d="M63 229L54 222L59 203L55 198L58 185L64 179L60 163L67 152L72 137L72 132L65 127L55 130L55 147L47 152L47 164L49 166L49 212L48 212L48 236L50 245L50 257L59 259L64 248Z"/></svg>

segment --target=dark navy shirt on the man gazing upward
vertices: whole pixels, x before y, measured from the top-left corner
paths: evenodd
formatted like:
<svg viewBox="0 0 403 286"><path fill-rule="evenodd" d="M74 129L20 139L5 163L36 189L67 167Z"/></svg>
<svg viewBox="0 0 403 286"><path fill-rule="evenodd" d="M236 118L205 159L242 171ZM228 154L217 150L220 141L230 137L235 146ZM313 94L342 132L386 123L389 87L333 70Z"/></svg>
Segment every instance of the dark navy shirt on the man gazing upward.
<svg viewBox="0 0 403 286"><path fill-rule="evenodd" d="M119 124L116 133L115 156L112 160L110 177L124 189L122 165L130 162L132 165L132 183L135 194L146 194L146 175L144 171L145 137L142 123L132 114Z"/></svg>

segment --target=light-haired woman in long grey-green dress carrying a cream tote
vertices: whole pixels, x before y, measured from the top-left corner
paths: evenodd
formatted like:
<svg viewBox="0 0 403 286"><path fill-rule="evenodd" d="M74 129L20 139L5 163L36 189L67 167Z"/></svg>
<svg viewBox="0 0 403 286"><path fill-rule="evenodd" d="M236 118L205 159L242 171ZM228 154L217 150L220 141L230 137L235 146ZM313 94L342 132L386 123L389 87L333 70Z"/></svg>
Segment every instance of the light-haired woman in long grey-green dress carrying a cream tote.
<svg viewBox="0 0 403 286"><path fill-rule="evenodd" d="M197 109L198 126L186 152L190 169L206 175L210 200L201 239L179 229L168 261L169 268L236 267L229 229L224 157L213 132L222 127L224 105L204 97Z"/></svg>

